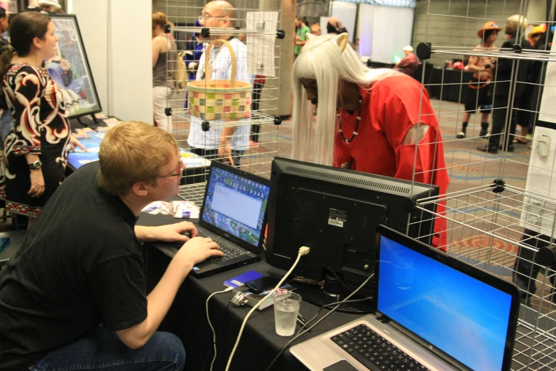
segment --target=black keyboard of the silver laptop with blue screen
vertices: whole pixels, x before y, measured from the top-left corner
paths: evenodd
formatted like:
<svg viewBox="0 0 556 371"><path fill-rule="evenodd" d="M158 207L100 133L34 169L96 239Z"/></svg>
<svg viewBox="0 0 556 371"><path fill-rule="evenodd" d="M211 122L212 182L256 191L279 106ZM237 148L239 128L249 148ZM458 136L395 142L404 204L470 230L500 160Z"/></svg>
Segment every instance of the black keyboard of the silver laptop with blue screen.
<svg viewBox="0 0 556 371"><path fill-rule="evenodd" d="M332 341L369 370L428 370L368 326L359 325L332 336Z"/></svg>

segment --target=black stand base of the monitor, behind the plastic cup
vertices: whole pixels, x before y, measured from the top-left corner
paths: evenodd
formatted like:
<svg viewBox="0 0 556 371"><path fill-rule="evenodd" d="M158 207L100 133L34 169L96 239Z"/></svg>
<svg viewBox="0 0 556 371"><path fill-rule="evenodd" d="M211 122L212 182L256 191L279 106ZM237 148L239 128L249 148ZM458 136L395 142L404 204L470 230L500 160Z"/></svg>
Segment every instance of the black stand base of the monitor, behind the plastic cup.
<svg viewBox="0 0 556 371"><path fill-rule="evenodd" d="M347 296L344 293L345 289L339 280L330 274L325 275L324 286L302 281L289 281L288 283L295 287L295 292L299 294L304 301L315 304L315 306L325 306L329 303L336 303L337 301L346 299ZM349 300L364 298L365 296L355 294L354 296L351 296ZM372 313L372 302L373 299L369 299L357 303L344 304L339 306L336 311L355 314ZM335 306L327 306L326 309L330 310L334 307Z"/></svg>

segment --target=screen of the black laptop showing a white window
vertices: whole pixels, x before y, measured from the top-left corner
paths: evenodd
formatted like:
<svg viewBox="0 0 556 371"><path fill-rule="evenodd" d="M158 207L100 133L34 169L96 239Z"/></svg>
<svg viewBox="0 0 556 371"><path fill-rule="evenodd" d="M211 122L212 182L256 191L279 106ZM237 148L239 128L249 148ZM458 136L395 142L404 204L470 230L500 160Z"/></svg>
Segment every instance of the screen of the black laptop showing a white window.
<svg viewBox="0 0 556 371"><path fill-rule="evenodd" d="M258 246L268 203L268 185L213 167L201 219Z"/></svg>

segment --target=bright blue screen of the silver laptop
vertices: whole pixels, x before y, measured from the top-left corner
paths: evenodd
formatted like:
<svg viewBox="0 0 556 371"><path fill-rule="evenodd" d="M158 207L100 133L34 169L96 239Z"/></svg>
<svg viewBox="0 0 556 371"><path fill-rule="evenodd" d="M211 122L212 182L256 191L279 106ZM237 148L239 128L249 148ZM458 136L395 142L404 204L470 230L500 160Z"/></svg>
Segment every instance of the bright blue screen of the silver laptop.
<svg viewBox="0 0 556 371"><path fill-rule="evenodd" d="M381 236L378 311L472 370L501 370L512 297Z"/></svg>

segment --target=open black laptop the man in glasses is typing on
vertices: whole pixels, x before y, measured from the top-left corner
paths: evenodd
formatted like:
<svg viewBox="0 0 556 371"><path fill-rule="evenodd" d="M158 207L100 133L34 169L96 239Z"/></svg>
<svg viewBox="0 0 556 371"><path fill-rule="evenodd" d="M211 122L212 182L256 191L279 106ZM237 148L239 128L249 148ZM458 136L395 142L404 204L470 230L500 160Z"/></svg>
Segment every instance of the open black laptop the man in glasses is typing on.
<svg viewBox="0 0 556 371"><path fill-rule="evenodd" d="M270 181L211 161L197 230L224 252L193 267L196 277L258 262L266 226Z"/></svg>

